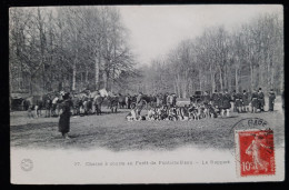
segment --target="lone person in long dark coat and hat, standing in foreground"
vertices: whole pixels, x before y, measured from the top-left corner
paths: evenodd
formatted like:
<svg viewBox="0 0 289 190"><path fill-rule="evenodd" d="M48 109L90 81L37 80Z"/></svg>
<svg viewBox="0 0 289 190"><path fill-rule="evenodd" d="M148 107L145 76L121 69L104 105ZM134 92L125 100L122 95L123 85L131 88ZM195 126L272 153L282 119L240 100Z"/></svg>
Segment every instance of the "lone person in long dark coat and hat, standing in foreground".
<svg viewBox="0 0 289 190"><path fill-rule="evenodd" d="M60 114L58 129L59 132L61 132L62 137L66 139L69 139L68 132L70 131L70 107L72 106L72 102L70 100L69 93L64 93L62 96L63 101L60 104L60 108L62 110L62 113Z"/></svg>

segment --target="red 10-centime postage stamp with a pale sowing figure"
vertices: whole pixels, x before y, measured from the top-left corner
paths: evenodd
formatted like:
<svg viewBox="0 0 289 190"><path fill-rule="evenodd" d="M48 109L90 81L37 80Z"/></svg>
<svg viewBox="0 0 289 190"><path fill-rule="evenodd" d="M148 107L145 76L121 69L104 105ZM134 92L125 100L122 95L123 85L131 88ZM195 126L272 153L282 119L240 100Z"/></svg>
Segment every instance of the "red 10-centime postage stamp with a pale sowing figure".
<svg viewBox="0 0 289 190"><path fill-rule="evenodd" d="M272 130L237 130L235 140L240 177L275 174Z"/></svg>

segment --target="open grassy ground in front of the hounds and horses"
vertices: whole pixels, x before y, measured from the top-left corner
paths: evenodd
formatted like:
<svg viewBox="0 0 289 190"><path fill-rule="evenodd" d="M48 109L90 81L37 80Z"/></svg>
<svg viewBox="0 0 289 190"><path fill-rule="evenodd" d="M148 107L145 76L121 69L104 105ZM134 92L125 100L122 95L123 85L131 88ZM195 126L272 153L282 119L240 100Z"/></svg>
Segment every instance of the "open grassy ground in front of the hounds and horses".
<svg viewBox="0 0 289 190"><path fill-rule="evenodd" d="M62 139L58 132L59 118L28 119L27 112L17 111L10 113L10 141L11 147L32 149L104 148L123 151L175 150L186 146L232 149L233 124L245 118L261 118L273 129L276 147L280 147L285 138L280 102L276 103L276 109L262 113L231 112L229 118L198 121L127 121L124 117L129 110L121 109L118 113L71 117L71 139Z"/></svg>

